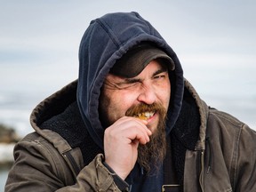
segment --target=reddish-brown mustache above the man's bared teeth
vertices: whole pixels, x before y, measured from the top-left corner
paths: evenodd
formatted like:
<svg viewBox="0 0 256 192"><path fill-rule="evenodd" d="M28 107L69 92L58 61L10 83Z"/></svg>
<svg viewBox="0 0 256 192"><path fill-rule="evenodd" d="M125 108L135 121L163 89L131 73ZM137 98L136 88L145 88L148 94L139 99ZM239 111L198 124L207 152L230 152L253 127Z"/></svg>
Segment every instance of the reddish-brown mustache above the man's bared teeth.
<svg viewBox="0 0 256 192"><path fill-rule="evenodd" d="M145 112L154 112L160 115L166 114L166 109L160 103L146 104L140 103L138 105L133 105L131 108L128 108L125 112L125 116L138 116Z"/></svg>

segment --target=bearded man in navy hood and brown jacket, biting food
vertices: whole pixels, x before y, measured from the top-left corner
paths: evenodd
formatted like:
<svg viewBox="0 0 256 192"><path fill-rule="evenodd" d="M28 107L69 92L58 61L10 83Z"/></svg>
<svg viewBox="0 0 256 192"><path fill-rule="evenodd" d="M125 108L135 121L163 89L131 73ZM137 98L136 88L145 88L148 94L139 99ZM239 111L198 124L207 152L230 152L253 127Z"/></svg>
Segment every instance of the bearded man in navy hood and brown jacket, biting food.
<svg viewBox="0 0 256 192"><path fill-rule="evenodd" d="M139 13L92 20L79 64L32 112L6 192L256 191L256 133L200 99Z"/></svg>

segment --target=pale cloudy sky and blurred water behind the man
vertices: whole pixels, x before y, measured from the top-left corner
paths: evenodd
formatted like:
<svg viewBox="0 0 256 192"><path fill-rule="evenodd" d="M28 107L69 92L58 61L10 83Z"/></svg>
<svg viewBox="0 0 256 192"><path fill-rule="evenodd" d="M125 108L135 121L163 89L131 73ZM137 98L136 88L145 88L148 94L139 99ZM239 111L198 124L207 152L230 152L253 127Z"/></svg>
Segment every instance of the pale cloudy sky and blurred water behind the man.
<svg viewBox="0 0 256 192"><path fill-rule="evenodd" d="M77 78L78 46L90 21L108 12L132 11L164 36L184 76L208 105L256 130L256 1L0 3L0 124L19 137L33 132L29 115L36 104ZM0 160L12 156L12 148L0 143ZM0 168L0 191L7 172Z"/></svg>

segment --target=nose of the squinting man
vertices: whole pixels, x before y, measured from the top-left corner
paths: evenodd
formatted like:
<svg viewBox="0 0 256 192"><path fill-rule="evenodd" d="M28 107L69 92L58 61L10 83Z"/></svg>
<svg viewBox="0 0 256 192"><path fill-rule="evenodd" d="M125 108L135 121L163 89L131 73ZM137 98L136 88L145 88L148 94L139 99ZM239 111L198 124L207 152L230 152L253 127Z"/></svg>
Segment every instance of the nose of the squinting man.
<svg viewBox="0 0 256 192"><path fill-rule="evenodd" d="M144 84L140 89L138 100L148 105L153 104L156 101L156 92L154 87L151 84Z"/></svg>

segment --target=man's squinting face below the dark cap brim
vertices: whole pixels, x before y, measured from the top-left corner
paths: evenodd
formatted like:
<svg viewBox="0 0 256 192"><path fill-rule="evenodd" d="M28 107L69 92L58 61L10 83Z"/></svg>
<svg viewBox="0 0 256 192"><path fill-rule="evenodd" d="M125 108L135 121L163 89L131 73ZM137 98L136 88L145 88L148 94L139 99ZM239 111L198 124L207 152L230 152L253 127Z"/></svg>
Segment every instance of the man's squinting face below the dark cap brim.
<svg viewBox="0 0 256 192"><path fill-rule="evenodd" d="M122 116L146 116L148 129L155 132L163 114L160 116L157 108L151 106L160 106L167 111L170 97L168 70L157 60L152 60L132 78L109 74L100 94L100 120L104 126L109 126ZM140 108L141 105L148 108Z"/></svg>

